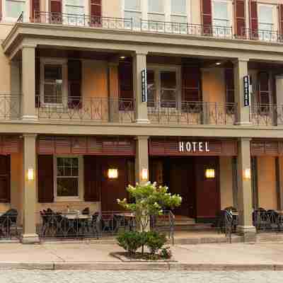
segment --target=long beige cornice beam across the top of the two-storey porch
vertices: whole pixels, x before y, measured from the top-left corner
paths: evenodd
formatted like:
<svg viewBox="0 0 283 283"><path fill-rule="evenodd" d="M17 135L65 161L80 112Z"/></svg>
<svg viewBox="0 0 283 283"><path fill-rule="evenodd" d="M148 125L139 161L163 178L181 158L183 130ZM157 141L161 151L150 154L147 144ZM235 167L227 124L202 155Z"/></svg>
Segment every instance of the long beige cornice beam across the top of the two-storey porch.
<svg viewBox="0 0 283 283"><path fill-rule="evenodd" d="M21 45L81 48L112 52L149 52L171 56L254 59L283 62L281 43L225 40L192 35L16 23L2 43L11 58Z"/></svg>

